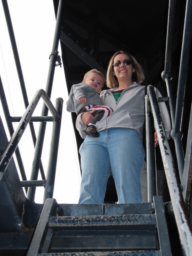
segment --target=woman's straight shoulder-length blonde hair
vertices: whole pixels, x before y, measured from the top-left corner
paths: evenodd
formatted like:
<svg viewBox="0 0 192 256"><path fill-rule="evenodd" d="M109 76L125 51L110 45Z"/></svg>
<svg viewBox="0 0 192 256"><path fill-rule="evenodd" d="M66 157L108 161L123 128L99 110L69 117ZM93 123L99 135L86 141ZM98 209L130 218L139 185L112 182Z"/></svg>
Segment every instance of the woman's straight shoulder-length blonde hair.
<svg viewBox="0 0 192 256"><path fill-rule="evenodd" d="M114 62L115 57L119 54L128 55L132 62L132 66L135 69L135 72L133 72L133 74L132 74L132 81L136 82L137 84L142 83L145 79L145 76L144 76L144 72L143 72L141 65L137 62L137 60L130 53L127 53L125 51L118 51L113 55L113 57L109 61L109 65L107 68L107 75L106 75L107 87L111 88L111 89L119 87L118 80L117 80L116 76L113 74L113 68L114 68L113 62Z"/></svg>

